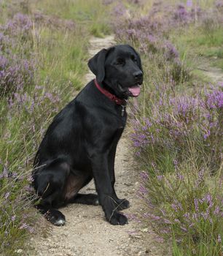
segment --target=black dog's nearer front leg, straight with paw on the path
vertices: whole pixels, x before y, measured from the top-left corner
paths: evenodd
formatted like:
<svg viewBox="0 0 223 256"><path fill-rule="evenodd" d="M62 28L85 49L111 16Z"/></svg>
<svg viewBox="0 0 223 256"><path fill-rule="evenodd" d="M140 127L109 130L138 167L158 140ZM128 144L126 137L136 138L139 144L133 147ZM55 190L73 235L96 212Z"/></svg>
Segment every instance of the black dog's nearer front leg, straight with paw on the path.
<svg viewBox="0 0 223 256"><path fill-rule="evenodd" d="M117 211L118 206L114 199L114 189L111 186L111 178L109 175L108 154L94 151L91 156L91 162L95 187L106 219L112 225L125 225L128 223L128 219Z"/></svg>

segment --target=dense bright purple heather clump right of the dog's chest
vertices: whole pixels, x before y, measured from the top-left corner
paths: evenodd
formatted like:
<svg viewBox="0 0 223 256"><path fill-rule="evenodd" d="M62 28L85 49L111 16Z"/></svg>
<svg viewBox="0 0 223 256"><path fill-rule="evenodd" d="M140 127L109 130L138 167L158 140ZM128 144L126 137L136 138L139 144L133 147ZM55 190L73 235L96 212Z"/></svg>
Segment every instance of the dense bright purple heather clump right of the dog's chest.
<svg viewBox="0 0 223 256"><path fill-rule="evenodd" d="M165 91L164 89L162 91ZM149 117L133 118L131 139L140 157L152 156L151 148L157 151L175 151L177 157L187 151L188 141L195 140L205 145L206 154L213 159L210 165L221 162L222 146L222 90L214 89L196 97L171 97L164 95L150 106ZM208 140L208 143L207 143ZM219 141L218 141L219 140ZM212 156L212 157L211 157ZM176 158L176 161L178 158ZM220 162L219 162L220 161Z"/></svg>

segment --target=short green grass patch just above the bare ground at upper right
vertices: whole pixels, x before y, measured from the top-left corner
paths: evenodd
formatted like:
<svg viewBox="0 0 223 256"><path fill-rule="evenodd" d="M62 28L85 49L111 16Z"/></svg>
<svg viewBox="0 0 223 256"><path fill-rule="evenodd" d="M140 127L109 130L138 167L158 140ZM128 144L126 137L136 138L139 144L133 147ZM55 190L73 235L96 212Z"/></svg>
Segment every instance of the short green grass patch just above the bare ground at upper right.
<svg viewBox="0 0 223 256"><path fill-rule="evenodd" d="M209 21L211 23L211 20ZM223 69L223 27L216 25L212 28L190 26L187 31L180 30L171 34L171 40L183 56L186 53L186 63L196 69L203 61L208 67ZM202 57L205 57L203 59ZM208 58L208 59L207 59Z"/></svg>

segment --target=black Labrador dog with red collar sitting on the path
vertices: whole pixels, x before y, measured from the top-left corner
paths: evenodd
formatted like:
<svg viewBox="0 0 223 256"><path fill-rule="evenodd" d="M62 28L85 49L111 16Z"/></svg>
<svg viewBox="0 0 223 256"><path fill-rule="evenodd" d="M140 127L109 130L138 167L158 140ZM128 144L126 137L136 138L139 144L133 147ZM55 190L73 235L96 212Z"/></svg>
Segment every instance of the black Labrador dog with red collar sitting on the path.
<svg viewBox="0 0 223 256"><path fill-rule="evenodd" d="M119 211L129 202L114 191L114 157L125 127L127 99L140 93L141 59L129 45L117 45L98 52L88 66L96 79L55 116L37 151L37 208L52 224L64 225L64 215L55 208L100 204L111 224L125 225L128 219ZM98 195L79 194L92 178Z"/></svg>

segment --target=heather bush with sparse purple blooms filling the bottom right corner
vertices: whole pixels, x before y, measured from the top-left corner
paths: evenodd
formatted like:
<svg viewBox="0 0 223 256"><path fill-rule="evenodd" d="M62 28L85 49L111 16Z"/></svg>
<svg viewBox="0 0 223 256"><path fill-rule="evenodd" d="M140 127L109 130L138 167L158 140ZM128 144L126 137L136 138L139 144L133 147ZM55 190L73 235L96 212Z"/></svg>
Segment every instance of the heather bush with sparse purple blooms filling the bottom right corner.
<svg viewBox="0 0 223 256"><path fill-rule="evenodd" d="M221 255L221 169L211 176L190 160L175 161L172 169L164 174L153 164L149 173L141 173L138 194L147 209L141 219L161 240L173 241L173 255Z"/></svg>

